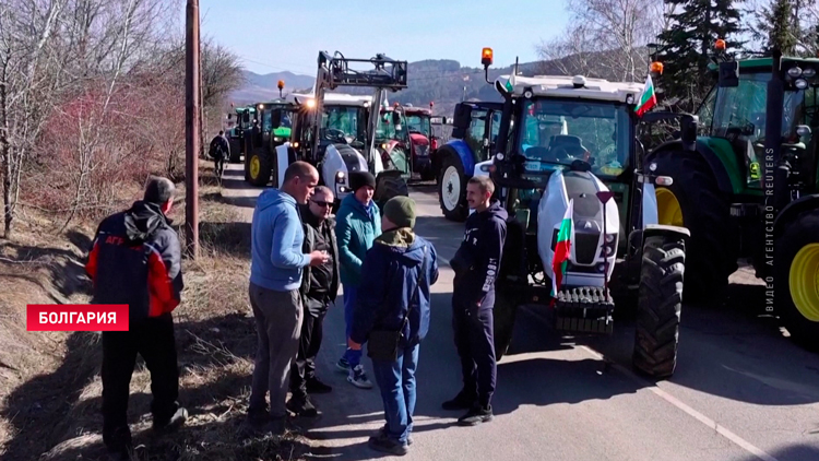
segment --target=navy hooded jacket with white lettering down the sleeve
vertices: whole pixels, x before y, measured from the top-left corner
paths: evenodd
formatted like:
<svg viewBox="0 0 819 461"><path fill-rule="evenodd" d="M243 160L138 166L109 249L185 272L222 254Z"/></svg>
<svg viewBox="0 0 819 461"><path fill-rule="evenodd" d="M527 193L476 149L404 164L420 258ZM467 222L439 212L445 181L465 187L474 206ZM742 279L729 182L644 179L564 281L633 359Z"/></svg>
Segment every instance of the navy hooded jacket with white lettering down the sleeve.
<svg viewBox="0 0 819 461"><path fill-rule="evenodd" d="M472 309L495 306L495 281L503 256L507 217L509 214L500 202L492 200L489 208L472 213L466 220L463 241L450 261L455 272L453 302Z"/></svg>

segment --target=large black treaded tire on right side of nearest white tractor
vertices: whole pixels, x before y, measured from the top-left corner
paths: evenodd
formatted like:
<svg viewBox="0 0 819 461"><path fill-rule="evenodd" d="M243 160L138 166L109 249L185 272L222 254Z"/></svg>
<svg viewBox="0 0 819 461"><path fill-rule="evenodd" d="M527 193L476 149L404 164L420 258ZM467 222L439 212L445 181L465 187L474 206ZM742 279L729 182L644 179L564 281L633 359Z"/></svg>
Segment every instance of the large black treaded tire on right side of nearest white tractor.
<svg viewBox="0 0 819 461"><path fill-rule="evenodd" d="M634 368L655 379L674 375L686 267L684 239L651 235L643 244L634 333Z"/></svg>

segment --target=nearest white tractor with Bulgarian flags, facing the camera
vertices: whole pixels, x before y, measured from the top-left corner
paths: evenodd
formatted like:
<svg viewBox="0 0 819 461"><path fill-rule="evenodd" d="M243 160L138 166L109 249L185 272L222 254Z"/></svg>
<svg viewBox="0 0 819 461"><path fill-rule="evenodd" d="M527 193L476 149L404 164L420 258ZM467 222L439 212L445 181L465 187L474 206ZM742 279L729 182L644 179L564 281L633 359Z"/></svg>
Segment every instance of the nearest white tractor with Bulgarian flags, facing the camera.
<svg viewBox="0 0 819 461"><path fill-rule="evenodd" d="M491 60L485 48L487 74ZM475 175L492 179L509 214L496 282L496 355L507 353L522 306L560 333L609 335L615 309L627 307L615 305L613 294L631 292L638 299L633 366L655 379L670 377L689 233L657 224L654 188L672 179L643 168L636 134L644 123L679 118L679 145L690 150L696 117L638 117L645 86L634 82L525 78L515 66L494 84L505 99L500 108L462 108L453 125L461 132L479 128L474 141L491 156L476 164ZM476 123L482 117L491 127Z"/></svg>

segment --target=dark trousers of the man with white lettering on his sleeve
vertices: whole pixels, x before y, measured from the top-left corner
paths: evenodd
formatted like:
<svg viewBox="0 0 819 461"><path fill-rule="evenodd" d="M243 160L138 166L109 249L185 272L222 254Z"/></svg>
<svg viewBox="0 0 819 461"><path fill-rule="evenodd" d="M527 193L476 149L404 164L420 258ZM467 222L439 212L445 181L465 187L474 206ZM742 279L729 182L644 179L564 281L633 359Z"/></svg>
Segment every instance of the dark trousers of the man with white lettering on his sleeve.
<svg viewBox="0 0 819 461"><path fill-rule="evenodd" d="M452 299L452 327L455 347L461 357L463 388L484 406L489 405L495 393L495 340L492 338L492 309L467 307Z"/></svg>

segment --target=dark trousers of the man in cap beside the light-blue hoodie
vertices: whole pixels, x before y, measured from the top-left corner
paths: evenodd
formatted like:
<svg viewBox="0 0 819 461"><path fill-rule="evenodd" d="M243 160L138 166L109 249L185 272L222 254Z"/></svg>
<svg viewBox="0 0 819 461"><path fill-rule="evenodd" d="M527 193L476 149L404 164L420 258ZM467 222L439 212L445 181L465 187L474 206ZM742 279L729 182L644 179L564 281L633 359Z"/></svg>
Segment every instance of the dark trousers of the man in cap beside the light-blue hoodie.
<svg viewBox="0 0 819 461"><path fill-rule="evenodd" d="M324 336L327 306L327 303L307 300L298 353L290 365L290 392L295 398L307 397L307 382L316 378L316 356L319 355L321 339Z"/></svg>

